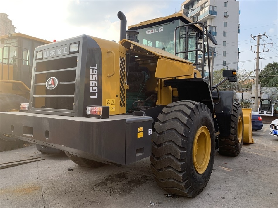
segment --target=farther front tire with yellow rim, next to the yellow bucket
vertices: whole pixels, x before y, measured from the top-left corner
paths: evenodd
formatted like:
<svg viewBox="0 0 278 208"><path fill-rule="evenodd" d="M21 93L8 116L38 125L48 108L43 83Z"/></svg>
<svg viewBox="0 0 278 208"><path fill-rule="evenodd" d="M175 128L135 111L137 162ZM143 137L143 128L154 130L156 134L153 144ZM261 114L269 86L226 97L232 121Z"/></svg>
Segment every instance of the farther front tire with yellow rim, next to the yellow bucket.
<svg viewBox="0 0 278 208"><path fill-rule="evenodd" d="M218 153L226 156L238 156L243 144L243 113L239 103L233 103L230 136L219 136Z"/></svg>

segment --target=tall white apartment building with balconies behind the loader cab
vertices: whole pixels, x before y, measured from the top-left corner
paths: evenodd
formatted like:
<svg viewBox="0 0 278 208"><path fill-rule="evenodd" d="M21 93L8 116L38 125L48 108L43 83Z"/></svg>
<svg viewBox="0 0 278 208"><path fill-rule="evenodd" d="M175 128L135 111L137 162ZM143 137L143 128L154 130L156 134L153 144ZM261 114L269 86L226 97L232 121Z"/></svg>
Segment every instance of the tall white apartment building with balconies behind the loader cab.
<svg viewBox="0 0 278 208"><path fill-rule="evenodd" d="M236 0L186 0L179 11L194 22L203 22L218 45L209 40L210 51L214 51L214 70L225 67L238 69L239 2ZM207 56L208 55L208 56ZM208 74L207 59L212 53L205 53L205 74ZM199 54L199 63L202 54ZM211 61L210 61L211 63Z"/></svg>

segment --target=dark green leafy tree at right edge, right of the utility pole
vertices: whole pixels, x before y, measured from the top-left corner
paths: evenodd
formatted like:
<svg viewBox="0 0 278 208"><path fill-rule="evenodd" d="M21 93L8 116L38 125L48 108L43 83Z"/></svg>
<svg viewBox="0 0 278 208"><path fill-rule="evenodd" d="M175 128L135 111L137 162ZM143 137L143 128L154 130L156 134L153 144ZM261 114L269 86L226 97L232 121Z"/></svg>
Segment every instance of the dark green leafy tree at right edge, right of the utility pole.
<svg viewBox="0 0 278 208"><path fill-rule="evenodd" d="M267 64L259 74L261 87L278 87L278 63Z"/></svg>

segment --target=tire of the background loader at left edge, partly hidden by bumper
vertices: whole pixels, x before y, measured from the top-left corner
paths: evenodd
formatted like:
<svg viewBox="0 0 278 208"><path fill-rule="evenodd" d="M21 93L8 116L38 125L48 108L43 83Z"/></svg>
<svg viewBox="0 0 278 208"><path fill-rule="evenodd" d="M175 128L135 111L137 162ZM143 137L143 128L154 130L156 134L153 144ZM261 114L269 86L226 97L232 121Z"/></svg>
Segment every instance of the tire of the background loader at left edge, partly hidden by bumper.
<svg viewBox="0 0 278 208"><path fill-rule="evenodd" d="M21 103L29 103L26 98L14 94L0 94L0 111L19 111ZM23 140L2 134L0 132L0 152L23 148L27 144Z"/></svg>

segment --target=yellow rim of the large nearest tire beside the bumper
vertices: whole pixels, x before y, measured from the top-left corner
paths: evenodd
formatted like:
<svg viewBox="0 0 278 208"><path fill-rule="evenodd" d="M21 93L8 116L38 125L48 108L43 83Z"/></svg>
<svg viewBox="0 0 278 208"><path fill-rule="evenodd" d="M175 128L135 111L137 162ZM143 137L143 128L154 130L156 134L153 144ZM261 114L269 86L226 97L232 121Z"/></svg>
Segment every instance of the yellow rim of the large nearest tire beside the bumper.
<svg viewBox="0 0 278 208"><path fill-rule="evenodd" d="M193 165L195 170L202 174L210 162L210 131L202 126L198 129L193 141Z"/></svg>

